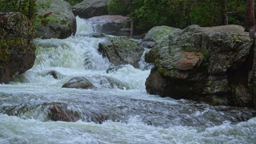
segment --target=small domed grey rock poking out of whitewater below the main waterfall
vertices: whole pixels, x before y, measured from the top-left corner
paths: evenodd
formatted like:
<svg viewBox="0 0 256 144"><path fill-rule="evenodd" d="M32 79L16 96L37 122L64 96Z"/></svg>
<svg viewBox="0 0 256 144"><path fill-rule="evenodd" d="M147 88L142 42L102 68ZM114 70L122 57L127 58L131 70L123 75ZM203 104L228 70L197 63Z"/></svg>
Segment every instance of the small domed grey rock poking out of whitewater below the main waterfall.
<svg viewBox="0 0 256 144"><path fill-rule="evenodd" d="M65 88L81 88L81 89L92 89L96 88L92 83L83 76L73 77L62 87Z"/></svg>

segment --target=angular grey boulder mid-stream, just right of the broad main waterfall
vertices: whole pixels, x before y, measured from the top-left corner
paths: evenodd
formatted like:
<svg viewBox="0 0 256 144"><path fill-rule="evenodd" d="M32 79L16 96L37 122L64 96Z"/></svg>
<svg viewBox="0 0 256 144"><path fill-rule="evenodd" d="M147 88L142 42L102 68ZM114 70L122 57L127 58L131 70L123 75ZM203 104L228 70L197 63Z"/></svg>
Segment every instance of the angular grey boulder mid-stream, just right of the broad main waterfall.
<svg viewBox="0 0 256 144"><path fill-rule="evenodd" d="M139 68L138 62L143 55L143 47L128 37L105 37L98 51L114 65L131 64Z"/></svg>

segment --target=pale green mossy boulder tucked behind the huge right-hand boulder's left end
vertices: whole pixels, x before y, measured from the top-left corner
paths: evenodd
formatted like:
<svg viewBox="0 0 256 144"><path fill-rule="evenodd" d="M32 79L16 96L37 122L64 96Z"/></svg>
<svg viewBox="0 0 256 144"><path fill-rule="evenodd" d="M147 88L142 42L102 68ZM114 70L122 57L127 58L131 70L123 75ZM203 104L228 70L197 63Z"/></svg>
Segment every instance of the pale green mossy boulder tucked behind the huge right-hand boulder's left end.
<svg viewBox="0 0 256 144"><path fill-rule="evenodd" d="M150 29L142 40L142 46L151 49L156 43L160 41L168 41L168 35L173 32L180 31L179 28L168 26L158 26Z"/></svg>

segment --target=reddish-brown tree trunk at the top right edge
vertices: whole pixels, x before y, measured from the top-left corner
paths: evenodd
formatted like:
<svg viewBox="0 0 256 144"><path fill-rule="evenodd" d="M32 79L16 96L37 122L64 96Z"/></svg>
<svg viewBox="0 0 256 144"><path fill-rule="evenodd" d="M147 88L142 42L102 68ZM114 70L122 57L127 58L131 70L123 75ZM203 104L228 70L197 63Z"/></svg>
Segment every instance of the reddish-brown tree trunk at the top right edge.
<svg viewBox="0 0 256 144"><path fill-rule="evenodd" d="M250 33L251 38L254 37L254 32L255 32L254 0L246 0L245 31Z"/></svg>

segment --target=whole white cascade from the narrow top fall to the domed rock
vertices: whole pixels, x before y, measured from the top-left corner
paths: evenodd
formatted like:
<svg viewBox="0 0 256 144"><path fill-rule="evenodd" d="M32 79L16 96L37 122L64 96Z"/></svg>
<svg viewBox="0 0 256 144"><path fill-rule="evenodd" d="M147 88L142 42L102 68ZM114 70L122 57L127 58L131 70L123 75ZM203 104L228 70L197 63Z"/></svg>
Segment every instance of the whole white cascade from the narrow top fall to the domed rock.
<svg viewBox="0 0 256 144"><path fill-rule="evenodd" d="M90 38L93 32L86 20L77 17L77 34L67 39L37 39L37 59L34 67L20 75L14 82L34 83L34 85L54 85L61 87L75 76L84 76L98 88L145 89L145 81L152 65L144 62L144 54L139 62L140 69L123 65L115 73L106 73L113 66L98 52L98 43L104 38ZM49 75L54 71L54 75Z"/></svg>

